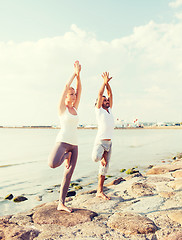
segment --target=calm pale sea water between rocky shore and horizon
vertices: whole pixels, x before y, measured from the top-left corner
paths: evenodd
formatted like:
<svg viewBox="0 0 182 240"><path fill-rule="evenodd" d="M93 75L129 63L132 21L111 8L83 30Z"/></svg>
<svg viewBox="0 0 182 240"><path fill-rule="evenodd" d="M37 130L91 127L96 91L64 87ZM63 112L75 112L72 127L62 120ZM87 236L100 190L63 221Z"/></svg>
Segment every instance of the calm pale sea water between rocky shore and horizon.
<svg viewBox="0 0 182 240"><path fill-rule="evenodd" d="M49 189L61 183L64 166L48 167L47 159L59 129L0 129L0 215L28 210L43 202L58 199ZM97 183L99 163L91 159L96 129L79 129L79 155L72 180ZM116 129L108 174L119 176L120 169L168 161L181 151L182 130ZM123 173L124 174L124 173ZM123 175L122 175L123 176ZM83 182L81 184L83 184ZM24 195L22 203L4 200L7 194ZM42 196L38 202L35 196Z"/></svg>

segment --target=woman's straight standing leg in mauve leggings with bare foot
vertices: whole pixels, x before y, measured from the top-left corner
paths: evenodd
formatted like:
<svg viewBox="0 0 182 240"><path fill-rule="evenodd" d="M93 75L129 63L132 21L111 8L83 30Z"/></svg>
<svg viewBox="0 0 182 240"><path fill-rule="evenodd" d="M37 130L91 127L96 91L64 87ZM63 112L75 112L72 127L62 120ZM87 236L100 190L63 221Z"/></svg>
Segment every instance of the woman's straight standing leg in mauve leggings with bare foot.
<svg viewBox="0 0 182 240"><path fill-rule="evenodd" d="M77 162L77 157L78 157L78 146L73 146L73 148L70 150L71 152L71 159L70 159L70 166L69 168L65 169L64 171L64 177L61 183L61 188L60 188L60 199L59 199L59 205L58 205L58 210L66 210L68 212L71 212L72 210L67 208L64 203L65 203L65 198L68 192L68 188L70 185L71 177L73 174L73 171L76 166Z"/></svg>

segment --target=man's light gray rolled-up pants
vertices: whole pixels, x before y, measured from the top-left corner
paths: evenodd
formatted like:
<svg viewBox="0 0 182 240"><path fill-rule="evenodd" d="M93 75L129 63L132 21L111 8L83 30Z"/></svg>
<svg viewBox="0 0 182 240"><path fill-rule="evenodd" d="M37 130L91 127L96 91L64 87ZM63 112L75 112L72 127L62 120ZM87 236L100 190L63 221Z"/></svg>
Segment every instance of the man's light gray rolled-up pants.
<svg viewBox="0 0 182 240"><path fill-rule="evenodd" d="M95 142L93 152L92 152L92 159L94 162L98 162L102 159L104 151L107 152L107 166L104 167L100 163L100 168L99 168L99 174L105 176L108 168L109 168L109 161L111 158L111 147L112 147L112 141L105 141L105 140L100 140Z"/></svg>

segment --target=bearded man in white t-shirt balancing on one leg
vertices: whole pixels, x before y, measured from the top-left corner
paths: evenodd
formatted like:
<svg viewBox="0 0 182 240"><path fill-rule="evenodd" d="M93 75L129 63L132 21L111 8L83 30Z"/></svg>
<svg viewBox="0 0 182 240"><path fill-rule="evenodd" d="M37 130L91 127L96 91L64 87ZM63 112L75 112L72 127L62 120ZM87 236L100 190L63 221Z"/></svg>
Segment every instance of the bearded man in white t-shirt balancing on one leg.
<svg viewBox="0 0 182 240"><path fill-rule="evenodd" d="M96 196L101 197L105 200L109 200L110 198L103 192L103 185L105 175L109 168L109 160L111 157L112 147L111 139L114 129L114 118L111 111L113 105L113 97L111 87L109 85L109 81L112 79L112 77L109 77L109 73L105 72L102 74L102 78L104 82L99 90L98 99L95 104L98 132L94 144L92 158L95 162L100 161L98 189ZM105 88L107 90L108 98L103 96Z"/></svg>

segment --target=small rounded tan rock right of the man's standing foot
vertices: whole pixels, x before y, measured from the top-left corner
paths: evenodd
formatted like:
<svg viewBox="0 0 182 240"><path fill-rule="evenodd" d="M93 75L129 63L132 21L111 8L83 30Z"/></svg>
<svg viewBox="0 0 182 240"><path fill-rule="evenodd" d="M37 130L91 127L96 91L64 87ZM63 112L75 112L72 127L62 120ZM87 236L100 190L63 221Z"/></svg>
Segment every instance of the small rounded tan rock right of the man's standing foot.
<svg viewBox="0 0 182 240"><path fill-rule="evenodd" d="M133 183L131 189L137 196L150 196L154 194L155 190L152 185L147 183Z"/></svg>

